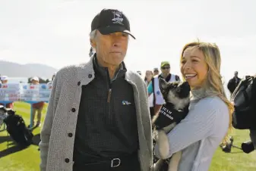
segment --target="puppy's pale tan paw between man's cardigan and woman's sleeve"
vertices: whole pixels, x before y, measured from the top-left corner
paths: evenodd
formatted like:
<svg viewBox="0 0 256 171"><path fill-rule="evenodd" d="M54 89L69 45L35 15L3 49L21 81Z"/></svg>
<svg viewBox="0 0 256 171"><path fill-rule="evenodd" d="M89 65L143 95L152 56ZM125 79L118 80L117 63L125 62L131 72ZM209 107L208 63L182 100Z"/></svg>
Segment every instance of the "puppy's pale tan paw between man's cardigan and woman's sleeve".
<svg viewBox="0 0 256 171"><path fill-rule="evenodd" d="M168 158L169 155L169 139L166 135L166 132L160 131L158 132L158 145L160 157L162 159Z"/></svg>

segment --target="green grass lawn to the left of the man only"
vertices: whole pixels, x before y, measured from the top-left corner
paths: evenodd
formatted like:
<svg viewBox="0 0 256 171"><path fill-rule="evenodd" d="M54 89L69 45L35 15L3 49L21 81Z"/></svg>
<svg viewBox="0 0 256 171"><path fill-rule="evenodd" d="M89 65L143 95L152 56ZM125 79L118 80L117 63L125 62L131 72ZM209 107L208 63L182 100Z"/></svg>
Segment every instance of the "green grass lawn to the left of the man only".
<svg viewBox="0 0 256 171"><path fill-rule="evenodd" d="M23 116L26 125L30 124L30 104L23 102L16 102L14 110ZM45 117L46 107L43 110L43 117ZM33 135L39 141L40 128L33 130ZM0 170L1 171L39 171L40 151L38 145L30 145L29 148L21 150L12 143L9 139L6 141L7 132L0 132Z"/></svg>

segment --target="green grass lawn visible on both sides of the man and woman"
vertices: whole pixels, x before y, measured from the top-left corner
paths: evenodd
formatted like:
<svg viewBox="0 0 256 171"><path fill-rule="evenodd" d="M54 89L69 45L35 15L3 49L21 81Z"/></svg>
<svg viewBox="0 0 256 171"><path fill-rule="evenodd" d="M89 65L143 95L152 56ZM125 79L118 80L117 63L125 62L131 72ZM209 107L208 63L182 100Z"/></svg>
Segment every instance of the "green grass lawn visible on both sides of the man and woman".
<svg viewBox="0 0 256 171"><path fill-rule="evenodd" d="M14 104L17 113L24 117L26 124L30 123L30 105L17 102ZM46 113L46 108L43 110ZM45 115L43 115L44 118ZM40 128L33 130L36 141L39 141ZM249 139L248 131L235 130L232 132L234 145L241 145L242 141ZM20 150L13 145L9 139L9 148L7 132L0 132L0 170L1 171L39 171L40 152L37 145L31 145L29 148ZM209 171L254 171L256 170L256 153L240 153L239 150L232 148L232 154L225 154L218 149L213 157Z"/></svg>

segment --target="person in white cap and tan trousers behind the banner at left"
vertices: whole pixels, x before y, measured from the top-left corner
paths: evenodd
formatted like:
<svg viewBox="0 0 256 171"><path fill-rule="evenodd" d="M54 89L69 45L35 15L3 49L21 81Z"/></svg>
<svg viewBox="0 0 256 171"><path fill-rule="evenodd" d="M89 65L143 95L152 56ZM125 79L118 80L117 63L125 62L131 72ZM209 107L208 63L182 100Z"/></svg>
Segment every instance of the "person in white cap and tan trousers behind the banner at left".
<svg viewBox="0 0 256 171"><path fill-rule="evenodd" d="M32 85L39 85L39 78L37 76L33 76L33 78L31 79L31 84ZM32 117L33 117L33 123L32 126L34 126L35 124L35 116L37 113L37 117L36 117L36 127L37 126L41 126L41 117L42 117L42 112L43 112L43 107L44 107L45 102L40 101L38 103L32 104Z"/></svg>

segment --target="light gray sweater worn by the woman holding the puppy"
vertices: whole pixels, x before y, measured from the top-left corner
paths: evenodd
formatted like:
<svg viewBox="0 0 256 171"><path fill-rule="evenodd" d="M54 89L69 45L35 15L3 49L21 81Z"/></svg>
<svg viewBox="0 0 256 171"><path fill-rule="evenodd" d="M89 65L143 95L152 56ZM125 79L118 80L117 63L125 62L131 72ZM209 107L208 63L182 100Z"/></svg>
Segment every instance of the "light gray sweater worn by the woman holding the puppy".
<svg viewBox="0 0 256 171"><path fill-rule="evenodd" d="M168 134L169 157L182 151L179 171L206 171L229 128L229 109L218 97L192 100L188 116ZM158 146L155 154L160 157Z"/></svg>

